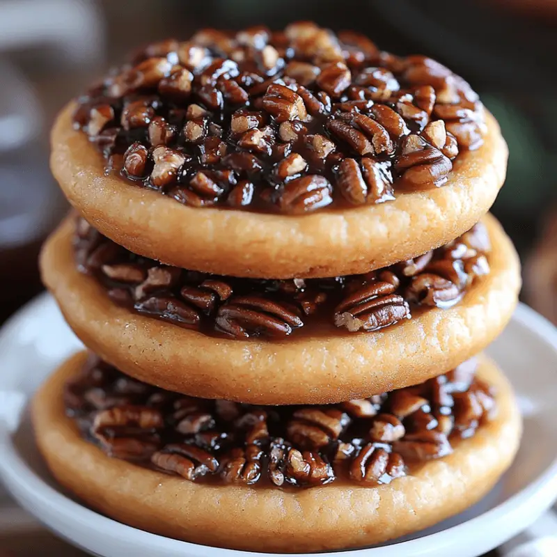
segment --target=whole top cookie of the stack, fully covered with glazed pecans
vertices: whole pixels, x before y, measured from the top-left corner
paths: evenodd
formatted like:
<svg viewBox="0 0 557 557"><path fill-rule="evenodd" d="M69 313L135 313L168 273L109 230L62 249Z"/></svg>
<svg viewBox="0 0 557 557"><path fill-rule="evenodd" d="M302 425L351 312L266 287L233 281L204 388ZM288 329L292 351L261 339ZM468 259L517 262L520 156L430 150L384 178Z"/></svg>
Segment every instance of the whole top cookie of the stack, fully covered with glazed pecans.
<svg viewBox="0 0 557 557"><path fill-rule="evenodd" d="M365 272L446 243L487 211L506 163L462 78L310 23L150 45L52 139L56 178L102 233L260 278Z"/></svg>

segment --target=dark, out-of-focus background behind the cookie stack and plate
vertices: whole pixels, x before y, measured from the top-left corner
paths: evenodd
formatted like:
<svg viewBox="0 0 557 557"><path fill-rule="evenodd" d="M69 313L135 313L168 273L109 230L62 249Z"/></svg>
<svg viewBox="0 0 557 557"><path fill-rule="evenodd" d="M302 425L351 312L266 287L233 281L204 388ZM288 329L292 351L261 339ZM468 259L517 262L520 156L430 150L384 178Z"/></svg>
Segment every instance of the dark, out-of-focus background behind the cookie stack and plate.
<svg viewBox="0 0 557 557"><path fill-rule="evenodd" d="M510 147L494 213L528 262L527 301L555 319L557 0L0 0L0 322L41 290L38 250L68 208L48 168L63 104L147 42L297 19L430 55L471 82ZM0 555L77 554L47 551L43 535L3 538Z"/></svg>

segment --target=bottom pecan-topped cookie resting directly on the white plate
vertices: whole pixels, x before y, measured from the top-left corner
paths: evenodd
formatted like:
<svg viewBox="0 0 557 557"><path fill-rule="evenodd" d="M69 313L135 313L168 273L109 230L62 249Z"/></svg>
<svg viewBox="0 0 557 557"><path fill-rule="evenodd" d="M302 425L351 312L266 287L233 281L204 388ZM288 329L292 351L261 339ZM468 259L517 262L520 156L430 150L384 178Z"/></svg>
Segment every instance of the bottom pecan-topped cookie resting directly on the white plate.
<svg viewBox="0 0 557 557"><path fill-rule="evenodd" d="M421 408L407 416L402 414L418 406L419 393L427 386L405 389L404 396L391 393L367 400L367 409L366 401L267 408L233 403L226 407L221 401L215 407L212 401L130 383L102 365L81 371L85 360L82 353L66 362L33 402L36 439L54 476L92 508L125 524L218 547L319 551L361 547L421 530L483 497L512 462L521 432L510 385L483 357L477 384L458 386L469 371L461 369L460 375L447 376L453 395L450 389L435 391L429 406L422 400ZM486 384L494 388L493 397L478 394L470 402L466 393L476 387L484 392ZM448 397L446 406L438 400L441 392ZM450 407L451 398L455 411L449 413L454 420L450 444L442 445L441 453L431 453L432 444L425 443L423 435L411 437L411 430L428 430L434 425L428 410L433 415ZM151 410L146 411L146 405ZM390 422L370 418L370 405L382 416L391 416ZM175 415L172 433L168 418L162 418L169 407ZM265 427L256 417L258 411L266 416ZM441 430L438 417L436 430ZM281 420L288 425L281 426ZM356 439L356 426L366 423L376 425ZM251 448L260 447L263 454L262 460L252 458L251 466L246 466L246 430L253 437ZM284 439L273 437L277 434ZM180 445L180 436L189 441ZM246 450L239 460L235 444L240 437ZM205 456L199 452L203 444ZM230 450L219 452L218 444L230 444ZM308 444L318 450L311 452ZM333 447L336 453L327 454ZM366 462L366 447L370 455L383 455L385 470L382 459L370 457ZM435 457L440 458L428 460ZM123 458L146 461L150 467Z"/></svg>

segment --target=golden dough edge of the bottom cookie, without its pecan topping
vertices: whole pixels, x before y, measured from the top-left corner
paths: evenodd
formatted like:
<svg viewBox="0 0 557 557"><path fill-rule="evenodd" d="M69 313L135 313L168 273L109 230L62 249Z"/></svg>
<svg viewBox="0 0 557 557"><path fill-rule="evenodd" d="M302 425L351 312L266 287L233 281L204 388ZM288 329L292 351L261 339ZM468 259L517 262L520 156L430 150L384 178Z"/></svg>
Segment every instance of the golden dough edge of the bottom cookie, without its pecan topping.
<svg viewBox="0 0 557 557"><path fill-rule="evenodd" d="M203 485L107 457L65 416L63 384L86 354L67 361L33 401L36 439L56 479L95 510L130 526L198 544L249 551L321 551L384 542L432 526L481 499L510 466L519 411L494 363L478 376L496 386L498 413L441 460L390 485L333 483L281 490Z"/></svg>

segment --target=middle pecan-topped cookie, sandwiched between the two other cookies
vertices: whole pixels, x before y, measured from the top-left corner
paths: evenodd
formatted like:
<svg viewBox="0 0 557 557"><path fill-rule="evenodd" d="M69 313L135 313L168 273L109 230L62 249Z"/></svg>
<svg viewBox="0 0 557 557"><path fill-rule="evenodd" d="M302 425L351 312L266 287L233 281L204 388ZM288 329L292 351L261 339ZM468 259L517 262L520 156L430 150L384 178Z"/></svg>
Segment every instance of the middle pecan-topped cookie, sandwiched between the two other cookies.
<svg viewBox="0 0 557 557"><path fill-rule="evenodd" d="M41 267L77 336L127 375L265 405L366 398L453 368L501 332L520 284L491 216L386 269L288 281L167 267L68 219Z"/></svg>

